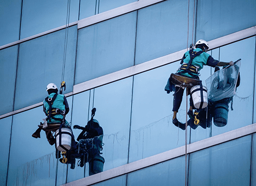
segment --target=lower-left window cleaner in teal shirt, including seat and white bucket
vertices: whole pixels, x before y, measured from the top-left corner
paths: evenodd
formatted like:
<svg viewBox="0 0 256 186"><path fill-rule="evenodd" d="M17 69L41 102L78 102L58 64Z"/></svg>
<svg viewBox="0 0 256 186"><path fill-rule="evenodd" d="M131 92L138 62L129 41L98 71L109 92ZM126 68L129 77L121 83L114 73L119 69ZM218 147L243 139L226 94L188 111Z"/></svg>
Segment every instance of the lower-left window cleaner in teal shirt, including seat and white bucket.
<svg viewBox="0 0 256 186"><path fill-rule="evenodd" d="M40 131L46 132L46 138L50 145L55 144L56 158L60 158L59 150L65 154L65 151L76 148L74 135L68 123L65 119L66 114L69 112L69 106L67 99L62 95L62 89L66 84L63 81L60 87L60 93L58 94L58 88L54 83L47 85L48 97L43 102L43 111L46 114L46 118L43 119L44 123L40 122L38 129L32 134L35 138L40 138ZM55 135L54 135L55 133ZM69 138L70 142L65 142L65 139ZM56 142L58 139L58 142ZM65 142L65 143L64 143ZM64 159L64 161L67 161Z"/></svg>

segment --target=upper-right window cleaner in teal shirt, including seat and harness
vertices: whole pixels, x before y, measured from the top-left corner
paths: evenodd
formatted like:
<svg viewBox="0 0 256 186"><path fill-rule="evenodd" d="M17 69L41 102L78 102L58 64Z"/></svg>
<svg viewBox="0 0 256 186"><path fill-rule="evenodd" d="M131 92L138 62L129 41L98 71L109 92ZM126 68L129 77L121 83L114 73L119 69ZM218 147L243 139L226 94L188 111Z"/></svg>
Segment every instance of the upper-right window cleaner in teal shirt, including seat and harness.
<svg viewBox="0 0 256 186"><path fill-rule="evenodd" d="M184 124L178 121L176 115L182 101L184 88L187 87L187 94L191 94L190 93L191 87L195 85L196 82L197 82L197 85L200 85L199 72L201 69L203 69L205 65L211 66L211 67L234 65L233 61L230 61L229 63L225 63L212 58L208 53L206 53L208 49L209 49L209 44L203 39L200 39L195 43L195 49L191 44L190 50L184 53L181 59L181 62L180 62L181 66L179 67L179 69L175 74L170 75L167 81L167 84L165 86L165 91L167 91L167 94L169 94L170 91L174 91L173 123L177 127L183 126L183 127L180 127L183 130L185 129ZM178 84L175 79L175 77L177 76L183 78L183 80L181 80ZM193 100L190 97L190 107L188 111L188 115L190 118L195 118L195 115L193 114L193 109L195 109L195 107L193 104Z"/></svg>

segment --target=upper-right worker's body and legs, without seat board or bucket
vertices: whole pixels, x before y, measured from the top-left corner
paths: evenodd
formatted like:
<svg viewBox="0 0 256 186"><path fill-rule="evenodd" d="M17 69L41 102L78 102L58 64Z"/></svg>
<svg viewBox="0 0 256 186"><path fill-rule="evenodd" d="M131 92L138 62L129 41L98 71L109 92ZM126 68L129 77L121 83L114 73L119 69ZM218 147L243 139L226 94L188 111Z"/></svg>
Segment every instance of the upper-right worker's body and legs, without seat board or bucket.
<svg viewBox="0 0 256 186"><path fill-rule="evenodd" d="M216 67L216 66L225 66L225 65L234 65L233 61L229 63L218 61L212 58L206 51L209 49L209 44L200 39L195 44L195 49L190 49L187 51L182 59L181 59L181 67L177 70L177 74L190 77L192 79L199 80L199 71L204 67L204 65ZM179 110L182 96L183 96L184 89L183 87L179 87L178 85L175 86L175 93L174 93L174 101L173 101L173 123L175 126L179 126L181 123L177 120L176 115ZM190 90L188 90L190 92ZM193 116L193 101L190 97L190 108L188 115L191 118Z"/></svg>

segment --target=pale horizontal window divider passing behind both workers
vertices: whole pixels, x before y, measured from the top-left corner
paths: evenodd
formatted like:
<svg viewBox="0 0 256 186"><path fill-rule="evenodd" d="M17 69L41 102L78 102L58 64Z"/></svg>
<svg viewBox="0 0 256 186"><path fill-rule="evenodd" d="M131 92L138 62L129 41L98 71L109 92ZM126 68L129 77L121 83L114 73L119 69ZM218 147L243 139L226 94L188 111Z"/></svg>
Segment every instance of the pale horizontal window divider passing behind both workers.
<svg viewBox="0 0 256 186"><path fill-rule="evenodd" d="M142 1L142 0L140 0ZM242 39L246 39L248 37L252 37L256 35L256 26L252 26L250 28L244 29L244 30L240 30L236 33L230 34L230 35L226 35L211 41L208 41L209 45L210 45L210 50L215 49L215 48L219 48L223 45L227 45ZM123 70L119 70L107 75L103 75L100 77L97 77L95 79L83 82L83 83L79 83L77 85L74 85L73 87L73 92L70 92L68 94L66 94L66 97L69 96L73 96L75 94L78 94L80 92L83 91L87 91L90 90L92 88L96 88L99 86L103 86L118 80L122 80L125 79L126 77L130 77L139 73L143 73L146 72L148 70L152 70L154 68L158 68L164 65L168 65L170 63L174 63L178 60L180 60L183 56L183 54L187 51L188 49L183 49L181 51L178 52L174 52L172 54L168 54L159 58L155 58L149 61L146 61L144 63L123 69ZM243 60L243 59L242 59ZM39 104L39 105L38 105ZM20 112L24 112L27 110L30 110L32 108L35 108L37 106L42 105L41 103L37 103L31 106L27 106L24 108L21 108L20 110L17 111L13 111L4 115L0 115L0 119L11 116L13 114L18 114Z"/></svg>

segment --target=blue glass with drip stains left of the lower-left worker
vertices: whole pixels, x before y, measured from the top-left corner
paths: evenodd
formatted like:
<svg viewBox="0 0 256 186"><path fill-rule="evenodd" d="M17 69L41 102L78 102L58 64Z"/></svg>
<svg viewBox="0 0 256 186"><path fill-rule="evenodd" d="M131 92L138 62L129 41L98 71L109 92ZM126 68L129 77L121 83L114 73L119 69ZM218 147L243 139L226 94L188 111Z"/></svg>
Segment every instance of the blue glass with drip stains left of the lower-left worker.
<svg viewBox="0 0 256 186"><path fill-rule="evenodd" d="M7 185L55 184L55 147L44 131L32 137L42 118L42 106L13 116Z"/></svg>

